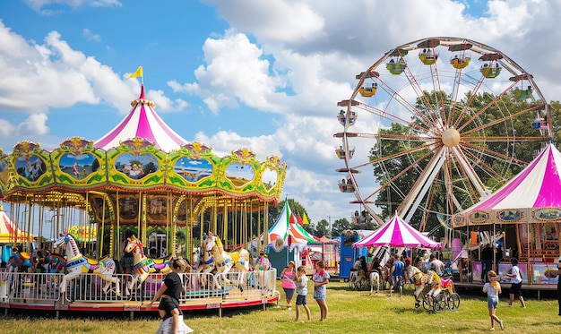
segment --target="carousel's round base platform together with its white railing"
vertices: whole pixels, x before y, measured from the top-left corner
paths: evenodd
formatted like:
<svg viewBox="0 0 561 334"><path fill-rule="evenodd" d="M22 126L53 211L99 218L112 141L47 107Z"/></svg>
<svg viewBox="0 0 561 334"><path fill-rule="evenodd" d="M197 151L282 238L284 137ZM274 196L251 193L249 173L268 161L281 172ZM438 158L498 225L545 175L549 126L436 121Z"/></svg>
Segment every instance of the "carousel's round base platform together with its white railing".
<svg viewBox="0 0 561 334"><path fill-rule="evenodd" d="M280 293L276 290L276 270L263 275L249 273L244 283L237 287L215 287L211 274L182 274L186 291L181 295L180 308L184 311L217 310L278 304ZM66 283L65 292L60 292L59 282L63 274L4 272L0 280L0 308L4 313L10 310L54 311L56 317L61 312L68 313L154 313L158 304L148 306L153 295L160 287L162 275L151 275L141 288L129 290L126 282L130 275L116 275L121 284L114 285L104 292L106 283L94 274L82 274L80 278ZM228 277L237 279L237 273ZM205 282L204 284L201 282Z"/></svg>

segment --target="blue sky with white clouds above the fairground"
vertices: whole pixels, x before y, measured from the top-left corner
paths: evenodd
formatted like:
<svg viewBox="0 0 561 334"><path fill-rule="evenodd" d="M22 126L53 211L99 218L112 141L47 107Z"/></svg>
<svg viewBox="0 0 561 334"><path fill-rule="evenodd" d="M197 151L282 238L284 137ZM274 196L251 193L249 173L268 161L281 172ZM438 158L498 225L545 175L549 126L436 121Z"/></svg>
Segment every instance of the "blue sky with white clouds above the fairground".
<svg viewBox="0 0 561 334"><path fill-rule="evenodd" d="M359 208L338 191L332 134L357 73L401 44L464 37L559 100L559 13L548 0L0 1L0 148L98 140L138 97L140 80L125 77L142 65L156 111L187 141L279 155L283 198L312 222L350 218Z"/></svg>

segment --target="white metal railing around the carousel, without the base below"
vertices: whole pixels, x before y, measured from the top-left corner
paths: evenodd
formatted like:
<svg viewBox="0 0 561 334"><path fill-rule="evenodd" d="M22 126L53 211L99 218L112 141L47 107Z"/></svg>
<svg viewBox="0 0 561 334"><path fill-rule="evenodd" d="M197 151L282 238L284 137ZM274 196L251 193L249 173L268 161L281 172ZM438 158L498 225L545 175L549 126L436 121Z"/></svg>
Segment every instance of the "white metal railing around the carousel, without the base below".
<svg viewBox="0 0 561 334"><path fill-rule="evenodd" d="M260 299L275 293L276 270L256 270L227 274L184 273L185 291L180 302L197 302L204 299L229 301ZM60 293L62 273L27 273L0 271L0 303L119 303L149 302L156 294L165 275L148 276L141 287L131 288L132 276L116 274L119 288L91 273L81 274L66 282L65 293ZM117 293L118 291L118 293Z"/></svg>

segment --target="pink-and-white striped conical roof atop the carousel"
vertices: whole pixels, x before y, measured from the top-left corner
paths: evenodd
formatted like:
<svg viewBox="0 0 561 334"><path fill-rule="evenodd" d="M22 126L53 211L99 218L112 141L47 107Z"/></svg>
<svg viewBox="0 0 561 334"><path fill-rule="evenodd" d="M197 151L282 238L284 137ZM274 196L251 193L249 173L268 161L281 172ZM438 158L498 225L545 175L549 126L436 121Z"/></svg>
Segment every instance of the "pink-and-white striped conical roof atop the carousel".
<svg viewBox="0 0 561 334"><path fill-rule="evenodd" d="M133 109L121 123L113 130L99 138L95 146L99 149L110 150L119 145L120 141L140 137L151 141L164 151L177 150L186 144L186 140L175 133L168 124L154 111L154 102L144 96L144 86L141 95L131 102Z"/></svg>

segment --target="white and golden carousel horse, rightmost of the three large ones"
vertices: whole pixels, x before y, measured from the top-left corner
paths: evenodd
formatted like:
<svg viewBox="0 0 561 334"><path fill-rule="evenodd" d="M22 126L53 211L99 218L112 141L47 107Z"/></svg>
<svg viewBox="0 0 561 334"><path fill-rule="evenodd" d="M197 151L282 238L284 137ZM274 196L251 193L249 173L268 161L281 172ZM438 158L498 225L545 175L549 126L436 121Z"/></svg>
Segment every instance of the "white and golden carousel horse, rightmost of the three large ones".
<svg viewBox="0 0 561 334"><path fill-rule="evenodd" d="M225 252L220 238L209 232L209 236L207 236L203 241L203 251L211 252L212 257L214 258L214 266L216 268L214 286L217 289L220 290L222 288L218 282L219 276L224 279L225 284L231 284L229 279L226 278L226 275L233 269L237 269L239 271L237 287L240 289L243 287L241 283L244 281L246 272L249 271L250 264L250 254L245 248L240 248L234 252Z"/></svg>

